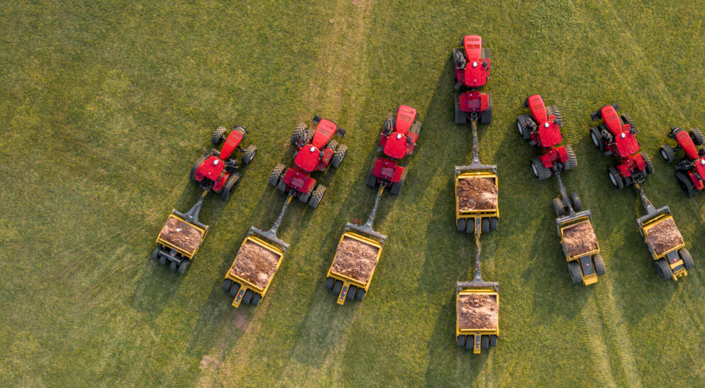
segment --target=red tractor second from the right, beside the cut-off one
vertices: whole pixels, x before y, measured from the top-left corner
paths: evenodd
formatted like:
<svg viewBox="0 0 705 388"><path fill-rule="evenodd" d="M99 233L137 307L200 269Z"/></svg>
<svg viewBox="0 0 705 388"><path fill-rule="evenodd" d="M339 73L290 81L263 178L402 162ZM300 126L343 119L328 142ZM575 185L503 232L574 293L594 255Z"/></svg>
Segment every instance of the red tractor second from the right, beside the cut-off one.
<svg viewBox="0 0 705 388"><path fill-rule="evenodd" d="M609 180L617 189L640 182L654 172L648 155L639 152L636 128L628 114L618 115L617 104L605 105L590 113L592 121L602 119L598 126L590 128L590 138L596 148L605 155L618 157L619 165L609 167Z"/></svg>

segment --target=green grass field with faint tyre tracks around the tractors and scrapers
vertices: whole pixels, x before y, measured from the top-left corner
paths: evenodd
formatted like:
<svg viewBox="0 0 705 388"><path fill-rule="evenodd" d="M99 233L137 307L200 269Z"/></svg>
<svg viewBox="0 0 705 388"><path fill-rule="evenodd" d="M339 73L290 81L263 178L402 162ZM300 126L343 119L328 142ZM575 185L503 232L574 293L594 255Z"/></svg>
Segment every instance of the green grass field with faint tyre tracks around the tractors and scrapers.
<svg viewBox="0 0 705 388"><path fill-rule="evenodd" d="M3 1L0 26L0 384L3 386L698 386L705 379L701 194L686 199L657 154L670 126L705 126L700 1ZM455 232L453 166L470 126L453 124L450 52L479 33L494 66L494 121L480 157L499 165L499 230L484 278L500 282L497 348L455 346L454 286L474 242ZM557 103L607 274L572 284L558 244L555 179L516 131L528 94ZM645 190L669 204L695 258L665 282L640 238L632 189L589 140L589 113L618 102L655 162ZM385 194L389 236L362 303L323 287L345 222L367 218L365 177L386 113L423 129L401 196ZM284 197L267 187L292 162L289 135L314 113L348 129L350 152L320 174L315 211L296 201L291 244L257 308L234 309L223 276L250 226ZM260 152L185 275L148 257L167 214L199 189L189 166L218 125L252 130Z"/></svg>

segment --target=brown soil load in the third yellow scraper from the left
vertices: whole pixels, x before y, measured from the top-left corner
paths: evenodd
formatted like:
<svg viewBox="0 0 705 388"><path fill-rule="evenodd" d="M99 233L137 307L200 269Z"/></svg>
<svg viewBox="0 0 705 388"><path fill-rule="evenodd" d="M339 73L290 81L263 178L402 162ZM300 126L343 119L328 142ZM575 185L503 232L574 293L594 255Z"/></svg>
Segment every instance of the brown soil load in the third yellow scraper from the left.
<svg viewBox="0 0 705 388"><path fill-rule="evenodd" d="M361 283L367 283L372 276L372 270L377 265L379 248L353 238L343 238L335 250L335 261L331 271L352 277Z"/></svg>

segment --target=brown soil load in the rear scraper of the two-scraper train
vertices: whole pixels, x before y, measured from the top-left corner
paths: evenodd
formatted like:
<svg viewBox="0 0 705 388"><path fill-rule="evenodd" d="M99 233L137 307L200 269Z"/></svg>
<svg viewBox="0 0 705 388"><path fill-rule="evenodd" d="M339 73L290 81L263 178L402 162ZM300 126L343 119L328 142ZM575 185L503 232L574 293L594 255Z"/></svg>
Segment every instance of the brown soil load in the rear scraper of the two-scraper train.
<svg viewBox="0 0 705 388"><path fill-rule="evenodd" d="M498 316L496 295L465 294L457 299L457 326L462 330L496 330Z"/></svg>

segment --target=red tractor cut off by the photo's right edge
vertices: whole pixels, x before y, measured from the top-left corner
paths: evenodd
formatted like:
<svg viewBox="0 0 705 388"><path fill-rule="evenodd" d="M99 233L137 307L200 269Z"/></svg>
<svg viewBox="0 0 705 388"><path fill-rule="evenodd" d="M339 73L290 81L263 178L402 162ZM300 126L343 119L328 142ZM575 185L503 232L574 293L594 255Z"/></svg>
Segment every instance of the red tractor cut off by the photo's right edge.
<svg viewBox="0 0 705 388"><path fill-rule="evenodd" d="M686 132L682 128L671 127L668 138L676 140L675 148L668 144L661 146L661 156L666 162L676 160L676 151L683 150L685 154L676 165L676 180L688 198L695 195L695 190L705 189L705 148L696 148L705 142L705 136L698 128Z"/></svg>

